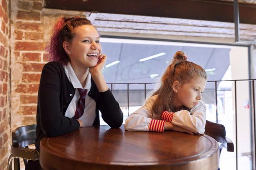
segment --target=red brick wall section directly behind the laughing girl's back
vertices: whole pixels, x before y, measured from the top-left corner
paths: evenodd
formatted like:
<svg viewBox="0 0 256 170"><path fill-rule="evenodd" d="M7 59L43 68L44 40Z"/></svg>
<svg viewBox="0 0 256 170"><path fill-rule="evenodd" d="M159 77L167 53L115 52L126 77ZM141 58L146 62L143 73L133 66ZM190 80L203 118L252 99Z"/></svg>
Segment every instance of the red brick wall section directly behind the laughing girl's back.
<svg viewBox="0 0 256 170"><path fill-rule="evenodd" d="M45 62L42 0L12 3L12 130L36 123L37 94Z"/></svg>

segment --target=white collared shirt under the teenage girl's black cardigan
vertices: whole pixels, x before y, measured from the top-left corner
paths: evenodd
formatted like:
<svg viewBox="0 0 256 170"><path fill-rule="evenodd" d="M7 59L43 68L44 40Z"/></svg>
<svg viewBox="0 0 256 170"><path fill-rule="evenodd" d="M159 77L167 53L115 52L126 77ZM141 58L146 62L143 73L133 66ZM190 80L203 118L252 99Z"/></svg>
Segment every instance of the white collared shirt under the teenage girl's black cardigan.
<svg viewBox="0 0 256 170"><path fill-rule="evenodd" d="M67 65L64 65L63 68L68 77L68 80L73 85L73 87L76 88L75 95L74 95L72 101L69 103L68 108L65 112L65 117L73 118L75 115L75 111L77 109L77 103L80 98L78 88L87 89L87 93L86 93L86 97L85 97L84 112L83 112L83 115L79 118L79 120L81 120L83 122L84 126L92 126L93 122L96 118L96 110L95 110L96 102L90 96L88 96L88 93L91 89L91 74L88 72L88 75L86 77L85 86L82 87L70 62Z"/></svg>

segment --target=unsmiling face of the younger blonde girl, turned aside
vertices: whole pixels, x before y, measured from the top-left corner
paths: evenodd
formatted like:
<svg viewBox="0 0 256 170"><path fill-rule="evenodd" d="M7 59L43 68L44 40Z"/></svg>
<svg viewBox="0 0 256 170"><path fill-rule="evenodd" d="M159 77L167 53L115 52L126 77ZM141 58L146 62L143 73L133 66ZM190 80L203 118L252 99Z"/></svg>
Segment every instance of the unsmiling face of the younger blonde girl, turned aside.
<svg viewBox="0 0 256 170"><path fill-rule="evenodd" d="M202 77L195 77L188 83L180 84L174 82L173 90L173 105L176 108L185 106L189 109L196 106L202 99L202 92L205 88L206 80Z"/></svg>

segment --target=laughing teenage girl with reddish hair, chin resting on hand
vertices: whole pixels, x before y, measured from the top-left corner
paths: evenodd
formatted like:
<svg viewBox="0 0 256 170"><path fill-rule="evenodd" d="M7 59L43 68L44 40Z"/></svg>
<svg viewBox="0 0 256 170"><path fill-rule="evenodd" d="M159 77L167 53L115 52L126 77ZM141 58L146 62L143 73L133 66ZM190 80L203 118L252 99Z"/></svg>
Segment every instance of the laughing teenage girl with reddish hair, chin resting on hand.
<svg viewBox="0 0 256 170"><path fill-rule="evenodd" d="M107 56L101 54L100 38L90 20L61 17L53 28L47 63L38 92L36 149L47 136L60 136L79 127L99 125L102 119L119 128L123 114L106 85L102 68ZM29 161L26 170L40 170L38 161Z"/></svg>

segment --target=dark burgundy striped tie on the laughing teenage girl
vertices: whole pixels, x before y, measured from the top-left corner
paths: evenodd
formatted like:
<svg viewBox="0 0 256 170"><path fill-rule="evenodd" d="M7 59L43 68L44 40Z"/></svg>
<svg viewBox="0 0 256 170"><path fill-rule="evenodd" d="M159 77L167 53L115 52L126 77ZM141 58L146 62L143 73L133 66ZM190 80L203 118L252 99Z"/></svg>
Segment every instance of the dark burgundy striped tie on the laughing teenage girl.
<svg viewBox="0 0 256 170"><path fill-rule="evenodd" d="M78 105L77 105L77 110L75 112L75 118L79 119L82 115L83 115L83 111L84 111L84 103L85 103L85 96L87 93L87 89L82 89L82 88L78 88L79 94L80 94L80 98L78 101Z"/></svg>

